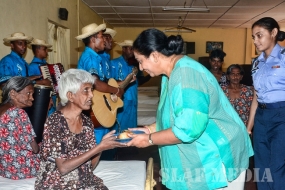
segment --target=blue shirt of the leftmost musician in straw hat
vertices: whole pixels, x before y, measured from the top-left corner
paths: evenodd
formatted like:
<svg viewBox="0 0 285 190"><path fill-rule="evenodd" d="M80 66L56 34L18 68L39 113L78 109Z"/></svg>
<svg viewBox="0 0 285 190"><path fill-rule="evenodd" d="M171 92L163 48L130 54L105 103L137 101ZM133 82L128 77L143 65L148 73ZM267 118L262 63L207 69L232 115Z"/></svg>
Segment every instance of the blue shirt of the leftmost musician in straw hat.
<svg viewBox="0 0 285 190"><path fill-rule="evenodd" d="M0 83L9 80L14 76L28 76L28 64L16 52L3 57L0 61Z"/></svg>

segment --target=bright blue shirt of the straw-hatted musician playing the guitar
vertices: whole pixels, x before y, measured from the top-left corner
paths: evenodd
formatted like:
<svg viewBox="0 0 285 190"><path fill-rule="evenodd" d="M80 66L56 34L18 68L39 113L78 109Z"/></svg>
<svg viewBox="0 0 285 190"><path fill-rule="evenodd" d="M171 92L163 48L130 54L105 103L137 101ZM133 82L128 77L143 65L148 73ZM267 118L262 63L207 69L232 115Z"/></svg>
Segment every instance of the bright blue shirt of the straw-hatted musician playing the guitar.
<svg viewBox="0 0 285 190"><path fill-rule="evenodd" d="M77 68L97 75L101 81L107 79L103 71L102 58L90 47L85 47L78 60Z"/></svg>

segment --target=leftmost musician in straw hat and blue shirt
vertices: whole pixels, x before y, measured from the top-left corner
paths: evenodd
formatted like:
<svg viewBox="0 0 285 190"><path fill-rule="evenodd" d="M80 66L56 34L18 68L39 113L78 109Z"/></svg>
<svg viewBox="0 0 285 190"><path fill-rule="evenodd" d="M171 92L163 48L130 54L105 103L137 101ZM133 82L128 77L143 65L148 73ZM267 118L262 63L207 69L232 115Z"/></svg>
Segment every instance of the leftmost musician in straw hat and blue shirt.
<svg viewBox="0 0 285 190"><path fill-rule="evenodd" d="M34 84L48 85L48 81L35 81L41 76L29 76L28 74L28 64L23 56L27 51L27 44L31 43L32 40L33 37L26 36L22 32L15 32L3 39L5 44L10 45L11 53L3 57L0 61L0 84L5 83L13 76L23 76L28 77Z"/></svg>

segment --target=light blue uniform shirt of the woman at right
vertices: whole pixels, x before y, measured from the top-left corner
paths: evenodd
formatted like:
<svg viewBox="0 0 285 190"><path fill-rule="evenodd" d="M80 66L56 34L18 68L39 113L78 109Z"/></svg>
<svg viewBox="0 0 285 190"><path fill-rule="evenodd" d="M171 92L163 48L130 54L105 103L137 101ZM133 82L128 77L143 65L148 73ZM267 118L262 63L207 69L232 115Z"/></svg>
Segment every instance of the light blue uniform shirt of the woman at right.
<svg viewBox="0 0 285 190"><path fill-rule="evenodd" d="M262 52L252 69L253 85L260 103L285 101L285 54L276 44L265 59Z"/></svg>

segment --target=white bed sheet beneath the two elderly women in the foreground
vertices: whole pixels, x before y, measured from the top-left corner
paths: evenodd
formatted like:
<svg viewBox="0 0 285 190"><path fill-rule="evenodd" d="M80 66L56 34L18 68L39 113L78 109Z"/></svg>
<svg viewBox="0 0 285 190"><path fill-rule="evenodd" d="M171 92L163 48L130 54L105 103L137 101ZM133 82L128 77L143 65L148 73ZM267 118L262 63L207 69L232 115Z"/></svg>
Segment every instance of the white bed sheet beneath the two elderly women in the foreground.
<svg viewBox="0 0 285 190"><path fill-rule="evenodd" d="M109 190L144 190L146 180L145 161L100 161L95 175L103 179ZM0 177L0 189L33 190L35 178L11 180Z"/></svg>

